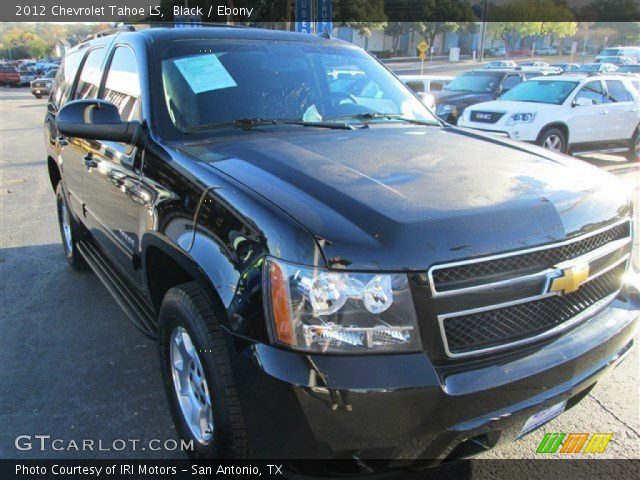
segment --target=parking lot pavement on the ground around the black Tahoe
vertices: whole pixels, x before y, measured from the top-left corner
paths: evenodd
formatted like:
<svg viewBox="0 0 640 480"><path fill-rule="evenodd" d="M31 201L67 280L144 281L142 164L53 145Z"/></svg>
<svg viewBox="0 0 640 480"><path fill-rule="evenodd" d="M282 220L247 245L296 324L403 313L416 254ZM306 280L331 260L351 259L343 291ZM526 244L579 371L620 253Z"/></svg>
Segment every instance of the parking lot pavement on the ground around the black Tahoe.
<svg viewBox="0 0 640 480"><path fill-rule="evenodd" d="M21 451L14 445L21 434L104 445L177 438L156 345L134 329L95 275L74 272L63 259L44 156L45 108L46 99L27 89L0 88L0 458L183 458L148 448ZM638 195L637 164L588 160ZM483 457L536 458L545 432L612 432L599 458L640 458L639 362L636 346L575 408ZM471 468L473 478L496 477L486 464ZM620 478L635 471L624 470L631 464L622 468Z"/></svg>

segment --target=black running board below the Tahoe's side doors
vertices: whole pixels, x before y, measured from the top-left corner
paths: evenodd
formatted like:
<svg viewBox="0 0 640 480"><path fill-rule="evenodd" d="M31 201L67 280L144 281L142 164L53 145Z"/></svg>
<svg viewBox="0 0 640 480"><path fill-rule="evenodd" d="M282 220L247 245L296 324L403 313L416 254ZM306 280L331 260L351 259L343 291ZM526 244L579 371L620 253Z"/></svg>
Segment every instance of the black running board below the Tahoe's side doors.
<svg viewBox="0 0 640 480"><path fill-rule="evenodd" d="M156 339L158 322L151 306L133 287L116 273L110 261L91 240L76 243L78 251L104 284L133 325L146 336Z"/></svg>

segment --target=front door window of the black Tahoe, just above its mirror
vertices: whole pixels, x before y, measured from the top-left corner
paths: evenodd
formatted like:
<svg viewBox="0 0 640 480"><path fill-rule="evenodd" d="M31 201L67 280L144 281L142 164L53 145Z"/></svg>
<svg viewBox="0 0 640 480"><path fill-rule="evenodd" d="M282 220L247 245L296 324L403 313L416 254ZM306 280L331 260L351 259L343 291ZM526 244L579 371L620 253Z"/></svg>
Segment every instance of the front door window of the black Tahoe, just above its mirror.
<svg viewBox="0 0 640 480"><path fill-rule="evenodd" d="M135 53L130 48L116 48L103 97L118 107L123 121L140 120L140 76Z"/></svg>

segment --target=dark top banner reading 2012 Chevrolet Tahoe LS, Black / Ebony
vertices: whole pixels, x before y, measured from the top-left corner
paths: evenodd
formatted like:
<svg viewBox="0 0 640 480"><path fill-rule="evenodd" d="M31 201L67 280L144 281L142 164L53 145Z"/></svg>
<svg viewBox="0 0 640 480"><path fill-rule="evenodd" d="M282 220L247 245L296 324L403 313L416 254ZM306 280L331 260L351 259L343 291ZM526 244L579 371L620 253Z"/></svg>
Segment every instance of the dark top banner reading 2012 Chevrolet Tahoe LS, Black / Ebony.
<svg viewBox="0 0 640 480"><path fill-rule="evenodd" d="M294 22L312 0L3 0L3 22ZM640 22L637 0L332 0L355 22ZM312 18L312 21L315 19Z"/></svg>

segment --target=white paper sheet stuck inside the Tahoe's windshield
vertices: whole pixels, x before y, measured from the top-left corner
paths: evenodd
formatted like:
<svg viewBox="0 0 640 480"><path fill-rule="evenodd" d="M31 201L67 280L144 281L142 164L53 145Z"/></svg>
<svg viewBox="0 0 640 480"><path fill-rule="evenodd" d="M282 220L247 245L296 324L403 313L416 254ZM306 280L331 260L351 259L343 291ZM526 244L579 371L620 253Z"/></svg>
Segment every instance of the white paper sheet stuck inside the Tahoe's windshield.
<svg viewBox="0 0 640 480"><path fill-rule="evenodd" d="M173 63L180 70L193 93L238 86L213 53L179 58Z"/></svg>

